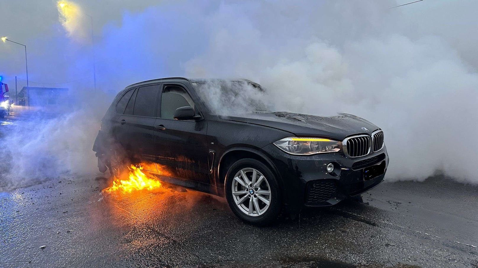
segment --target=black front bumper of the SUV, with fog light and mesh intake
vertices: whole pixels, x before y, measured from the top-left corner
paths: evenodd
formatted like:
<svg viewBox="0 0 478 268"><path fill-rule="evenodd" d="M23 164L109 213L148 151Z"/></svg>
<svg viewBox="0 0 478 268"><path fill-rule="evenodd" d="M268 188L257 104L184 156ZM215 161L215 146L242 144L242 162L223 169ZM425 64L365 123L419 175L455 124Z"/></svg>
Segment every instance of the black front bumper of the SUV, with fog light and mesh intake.
<svg viewBox="0 0 478 268"><path fill-rule="evenodd" d="M351 159L343 153L288 155L273 144L262 148L281 176L284 203L302 206L331 206L379 185L385 176L389 157L385 146L375 153ZM328 173L326 166L334 164ZM372 176L365 176L372 173Z"/></svg>

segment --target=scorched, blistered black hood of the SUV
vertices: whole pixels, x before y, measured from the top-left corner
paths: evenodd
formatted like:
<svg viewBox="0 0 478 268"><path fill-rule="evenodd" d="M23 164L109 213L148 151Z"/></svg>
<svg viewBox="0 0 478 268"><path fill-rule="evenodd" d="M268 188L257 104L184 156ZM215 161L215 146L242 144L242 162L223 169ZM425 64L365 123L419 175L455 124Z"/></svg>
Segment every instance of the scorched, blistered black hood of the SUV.
<svg viewBox="0 0 478 268"><path fill-rule="evenodd" d="M334 116L317 116L302 113L246 113L220 115L222 119L258 124L290 132L296 136L325 137L343 140L354 134L371 134L379 129L369 121L348 113ZM362 127L368 129L364 130Z"/></svg>

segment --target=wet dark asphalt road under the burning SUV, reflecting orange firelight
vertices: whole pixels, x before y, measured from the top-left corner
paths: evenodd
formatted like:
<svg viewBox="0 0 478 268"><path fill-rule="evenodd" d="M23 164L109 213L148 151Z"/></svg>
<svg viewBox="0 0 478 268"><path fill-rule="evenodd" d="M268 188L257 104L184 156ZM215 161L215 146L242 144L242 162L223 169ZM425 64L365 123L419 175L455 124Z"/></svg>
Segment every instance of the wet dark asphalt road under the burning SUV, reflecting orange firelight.
<svg viewBox="0 0 478 268"><path fill-rule="evenodd" d="M346 202L260 228L219 197L102 193L108 182L92 177L1 193L0 267L477 265L477 207L448 202L459 193L476 204L477 189L439 178L382 184L364 195L370 205Z"/></svg>

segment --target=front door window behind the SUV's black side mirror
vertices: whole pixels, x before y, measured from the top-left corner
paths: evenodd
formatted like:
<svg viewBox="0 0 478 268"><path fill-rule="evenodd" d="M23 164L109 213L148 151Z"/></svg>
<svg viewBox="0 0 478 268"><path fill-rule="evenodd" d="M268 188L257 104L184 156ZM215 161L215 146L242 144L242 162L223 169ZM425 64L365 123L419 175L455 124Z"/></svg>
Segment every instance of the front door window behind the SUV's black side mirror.
<svg viewBox="0 0 478 268"><path fill-rule="evenodd" d="M194 103L186 90L179 86L166 86L161 97L161 118L174 119L174 111L183 106L191 106Z"/></svg>

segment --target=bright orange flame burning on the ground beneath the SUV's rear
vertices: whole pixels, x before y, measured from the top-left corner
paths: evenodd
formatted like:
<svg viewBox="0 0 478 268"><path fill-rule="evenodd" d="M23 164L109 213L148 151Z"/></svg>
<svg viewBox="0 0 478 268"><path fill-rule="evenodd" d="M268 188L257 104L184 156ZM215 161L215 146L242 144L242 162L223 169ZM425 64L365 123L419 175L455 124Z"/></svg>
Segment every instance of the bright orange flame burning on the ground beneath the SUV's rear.
<svg viewBox="0 0 478 268"><path fill-rule="evenodd" d="M104 192L113 192L121 190L123 192L132 192L133 190L152 190L155 188L161 187L161 182L158 180L148 178L141 170L143 169L141 165L136 167L131 165L128 167L130 169L129 179L121 180L117 177L113 179L113 186L105 188Z"/></svg>

